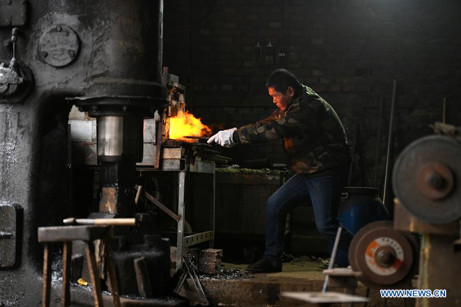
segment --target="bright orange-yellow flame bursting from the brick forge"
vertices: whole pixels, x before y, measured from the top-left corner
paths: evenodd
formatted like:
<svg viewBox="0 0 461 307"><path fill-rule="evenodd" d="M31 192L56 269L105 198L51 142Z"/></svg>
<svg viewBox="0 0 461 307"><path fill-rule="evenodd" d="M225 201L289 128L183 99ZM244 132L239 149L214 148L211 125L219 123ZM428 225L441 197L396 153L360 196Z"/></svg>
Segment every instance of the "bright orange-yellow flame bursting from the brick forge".
<svg viewBox="0 0 461 307"><path fill-rule="evenodd" d="M185 136L209 135L211 135L210 127L202 124L200 118L196 118L188 111L179 111L176 116L170 118L170 139L185 139Z"/></svg>

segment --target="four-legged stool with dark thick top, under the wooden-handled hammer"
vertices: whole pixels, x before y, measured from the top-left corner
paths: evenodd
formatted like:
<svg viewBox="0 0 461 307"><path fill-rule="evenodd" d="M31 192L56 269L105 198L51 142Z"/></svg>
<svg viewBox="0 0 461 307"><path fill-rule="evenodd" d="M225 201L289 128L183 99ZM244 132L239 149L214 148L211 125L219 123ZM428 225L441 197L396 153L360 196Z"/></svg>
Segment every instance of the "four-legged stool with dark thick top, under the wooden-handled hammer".
<svg viewBox="0 0 461 307"><path fill-rule="evenodd" d="M39 227L38 242L44 243L43 254L43 297L42 306L50 306L51 292L51 242L64 242L63 249L63 289L61 305L68 307L70 304L70 265L72 257L72 241L82 240L85 242L88 270L93 285L93 300L96 307L103 306L103 297L99 274L97 272L96 258L94 256L94 240L103 240L105 243L107 271L109 274L110 287L115 307L120 306L118 296L118 283L115 275L115 267L110 250L110 238L112 237L110 226L58 226L58 227Z"/></svg>

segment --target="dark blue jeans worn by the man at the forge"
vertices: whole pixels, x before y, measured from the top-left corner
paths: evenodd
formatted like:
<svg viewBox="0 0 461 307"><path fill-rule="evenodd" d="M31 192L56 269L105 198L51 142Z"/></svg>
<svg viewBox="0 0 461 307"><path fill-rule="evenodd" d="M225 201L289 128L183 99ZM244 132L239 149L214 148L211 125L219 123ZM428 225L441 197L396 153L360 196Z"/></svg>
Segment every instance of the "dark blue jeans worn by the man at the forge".
<svg viewBox="0 0 461 307"><path fill-rule="evenodd" d="M266 251L264 257L273 263L282 262L285 242L285 224L287 213L296 205L306 202L309 197L314 210L315 226L320 234L330 241L332 247L339 222L337 212L340 200L338 176L308 177L297 173L280 187L267 201ZM335 263L346 267L348 249L353 234L343 229Z"/></svg>

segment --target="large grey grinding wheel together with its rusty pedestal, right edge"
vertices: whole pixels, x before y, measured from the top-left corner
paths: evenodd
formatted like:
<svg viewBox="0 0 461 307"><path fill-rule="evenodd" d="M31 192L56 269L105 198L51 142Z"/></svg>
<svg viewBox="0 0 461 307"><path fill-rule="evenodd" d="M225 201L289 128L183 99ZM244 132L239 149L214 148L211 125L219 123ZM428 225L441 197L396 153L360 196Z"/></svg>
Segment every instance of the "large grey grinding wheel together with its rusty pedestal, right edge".
<svg viewBox="0 0 461 307"><path fill-rule="evenodd" d="M434 132L395 162L394 229L422 234L418 289L446 290L445 298L417 298L416 305L454 306L461 301L461 129L437 122Z"/></svg>

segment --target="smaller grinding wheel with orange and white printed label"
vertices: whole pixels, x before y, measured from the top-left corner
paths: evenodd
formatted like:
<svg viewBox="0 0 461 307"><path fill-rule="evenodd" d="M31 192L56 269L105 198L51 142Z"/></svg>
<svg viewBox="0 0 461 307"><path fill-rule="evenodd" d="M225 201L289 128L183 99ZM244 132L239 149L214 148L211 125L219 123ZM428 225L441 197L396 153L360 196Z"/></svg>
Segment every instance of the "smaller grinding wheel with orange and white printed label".
<svg viewBox="0 0 461 307"><path fill-rule="evenodd" d="M418 244L410 233L377 221L360 229L349 247L353 271L370 288L398 288L411 281L418 267Z"/></svg>

